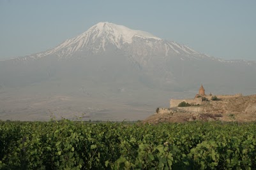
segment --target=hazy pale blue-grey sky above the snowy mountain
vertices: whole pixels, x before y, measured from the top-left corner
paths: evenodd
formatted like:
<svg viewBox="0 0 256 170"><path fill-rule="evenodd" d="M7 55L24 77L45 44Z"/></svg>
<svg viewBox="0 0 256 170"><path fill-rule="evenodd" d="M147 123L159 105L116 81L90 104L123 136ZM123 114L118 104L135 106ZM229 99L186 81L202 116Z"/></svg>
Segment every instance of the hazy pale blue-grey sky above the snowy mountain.
<svg viewBox="0 0 256 170"><path fill-rule="evenodd" d="M42 52L112 22L222 59L256 60L256 1L0 0L0 58Z"/></svg>

